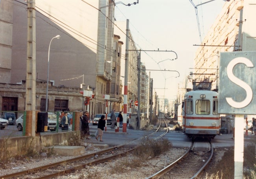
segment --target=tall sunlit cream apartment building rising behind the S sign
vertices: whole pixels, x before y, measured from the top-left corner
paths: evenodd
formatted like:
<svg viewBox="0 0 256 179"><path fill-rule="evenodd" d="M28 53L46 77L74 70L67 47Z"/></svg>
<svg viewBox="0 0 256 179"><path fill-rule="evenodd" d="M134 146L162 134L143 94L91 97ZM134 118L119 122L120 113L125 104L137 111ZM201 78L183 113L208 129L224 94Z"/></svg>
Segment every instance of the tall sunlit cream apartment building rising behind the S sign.
<svg viewBox="0 0 256 179"><path fill-rule="evenodd" d="M197 49L194 74L200 75L193 75L191 78L208 79L213 82L212 89L218 89L220 52L256 50L255 5L254 0L225 2L221 13L202 41L205 45ZM239 22L240 15L243 17L242 22ZM239 27L241 46L237 44Z"/></svg>

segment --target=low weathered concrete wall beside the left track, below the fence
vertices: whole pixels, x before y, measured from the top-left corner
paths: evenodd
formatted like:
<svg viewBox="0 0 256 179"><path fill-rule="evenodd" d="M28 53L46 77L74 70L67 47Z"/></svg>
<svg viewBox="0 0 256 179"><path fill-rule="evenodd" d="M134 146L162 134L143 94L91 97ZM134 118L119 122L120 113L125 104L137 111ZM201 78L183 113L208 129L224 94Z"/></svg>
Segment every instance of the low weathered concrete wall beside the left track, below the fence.
<svg viewBox="0 0 256 179"><path fill-rule="evenodd" d="M35 137L17 137L0 139L0 158L27 155L40 152L48 146L67 146L70 141L73 143L80 139L80 131L68 131L62 133L37 133Z"/></svg>

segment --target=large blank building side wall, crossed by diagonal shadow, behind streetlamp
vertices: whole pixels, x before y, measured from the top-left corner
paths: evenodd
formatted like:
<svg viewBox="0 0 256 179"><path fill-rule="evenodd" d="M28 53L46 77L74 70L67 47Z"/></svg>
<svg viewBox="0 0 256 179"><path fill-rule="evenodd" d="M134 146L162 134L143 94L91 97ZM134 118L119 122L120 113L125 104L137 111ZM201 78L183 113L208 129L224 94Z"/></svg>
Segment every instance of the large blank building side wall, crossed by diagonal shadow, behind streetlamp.
<svg viewBox="0 0 256 179"><path fill-rule="evenodd" d="M12 38L9 38L12 54L8 59L11 61L10 83L26 79L27 6L24 1L18 1L22 3L8 2L13 4ZM97 0L90 4L98 7ZM53 37L60 35L61 38L54 39L50 45L49 80L53 80L55 86L80 87L85 83L95 88L98 10L82 1L70 3L68 0L37 0L36 9L36 78L47 79L49 44Z"/></svg>

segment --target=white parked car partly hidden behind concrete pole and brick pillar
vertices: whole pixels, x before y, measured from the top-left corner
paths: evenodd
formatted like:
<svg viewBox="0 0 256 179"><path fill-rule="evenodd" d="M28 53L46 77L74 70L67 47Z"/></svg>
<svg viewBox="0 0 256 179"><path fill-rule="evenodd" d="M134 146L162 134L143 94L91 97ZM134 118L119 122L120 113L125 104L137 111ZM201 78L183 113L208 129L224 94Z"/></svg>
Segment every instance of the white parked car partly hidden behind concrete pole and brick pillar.
<svg viewBox="0 0 256 179"><path fill-rule="evenodd" d="M56 131L57 115L54 113L48 113L48 127L50 131ZM18 131L23 129L23 114L16 120L16 126Z"/></svg>

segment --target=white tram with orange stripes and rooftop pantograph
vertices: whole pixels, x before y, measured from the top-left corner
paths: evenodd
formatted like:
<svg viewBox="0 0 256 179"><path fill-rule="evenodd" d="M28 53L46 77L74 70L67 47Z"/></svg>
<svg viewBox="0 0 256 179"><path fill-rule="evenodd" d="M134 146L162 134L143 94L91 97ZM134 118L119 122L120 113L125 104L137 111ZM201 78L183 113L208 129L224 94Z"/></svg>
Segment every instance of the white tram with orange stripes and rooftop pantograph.
<svg viewBox="0 0 256 179"><path fill-rule="evenodd" d="M211 82L193 81L182 101L182 125L188 138L213 139L220 133L218 93L211 90Z"/></svg>

